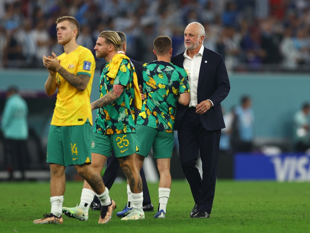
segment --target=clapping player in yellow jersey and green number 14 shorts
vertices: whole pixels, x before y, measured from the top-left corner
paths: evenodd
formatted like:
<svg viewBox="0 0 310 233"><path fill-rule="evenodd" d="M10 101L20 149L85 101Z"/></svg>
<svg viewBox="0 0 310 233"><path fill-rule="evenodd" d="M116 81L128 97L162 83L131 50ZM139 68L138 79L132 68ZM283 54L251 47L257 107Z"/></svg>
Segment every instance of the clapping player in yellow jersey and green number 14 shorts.
<svg viewBox="0 0 310 233"><path fill-rule="evenodd" d="M43 64L49 71L45 83L47 95L53 95L58 88L47 142L47 162L51 168L51 213L36 224L62 224L62 203L64 200L66 166L74 165L92 187L100 200L106 200L101 176L91 166L92 115L90 106L91 84L95 72L95 58L87 48L79 46L78 21L70 16L56 21L58 43L64 46L60 56L43 56ZM102 205L112 210L115 203ZM111 211L110 211L111 212ZM112 214L111 214L112 215ZM101 216L102 217L102 216ZM110 219L108 216L106 218ZM85 215L87 220L88 214Z"/></svg>

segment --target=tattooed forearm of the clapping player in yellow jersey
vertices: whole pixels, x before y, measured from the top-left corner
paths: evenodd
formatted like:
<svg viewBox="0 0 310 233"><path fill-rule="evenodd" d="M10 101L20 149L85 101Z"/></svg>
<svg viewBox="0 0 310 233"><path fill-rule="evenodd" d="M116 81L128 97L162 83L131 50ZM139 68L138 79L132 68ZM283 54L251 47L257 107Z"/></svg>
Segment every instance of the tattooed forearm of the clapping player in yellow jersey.
<svg viewBox="0 0 310 233"><path fill-rule="evenodd" d="M74 75L71 74L69 71L64 69L64 67L61 67L58 70L58 73L73 87L78 89L79 91L84 91L87 87L88 81L91 77L89 77L87 74L79 74Z"/></svg>

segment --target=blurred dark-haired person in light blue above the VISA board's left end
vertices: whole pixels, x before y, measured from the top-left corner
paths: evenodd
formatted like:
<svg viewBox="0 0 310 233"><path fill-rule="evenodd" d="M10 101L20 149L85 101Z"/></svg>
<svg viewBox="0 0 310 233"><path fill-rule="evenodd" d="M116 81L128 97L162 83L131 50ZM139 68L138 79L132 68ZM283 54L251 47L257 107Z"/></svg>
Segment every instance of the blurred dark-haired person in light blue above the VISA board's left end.
<svg viewBox="0 0 310 233"><path fill-rule="evenodd" d="M241 105L235 109L238 140L235 141L235 151L251 151L254 139L254 114L249 96L241 98Z"/></svg>

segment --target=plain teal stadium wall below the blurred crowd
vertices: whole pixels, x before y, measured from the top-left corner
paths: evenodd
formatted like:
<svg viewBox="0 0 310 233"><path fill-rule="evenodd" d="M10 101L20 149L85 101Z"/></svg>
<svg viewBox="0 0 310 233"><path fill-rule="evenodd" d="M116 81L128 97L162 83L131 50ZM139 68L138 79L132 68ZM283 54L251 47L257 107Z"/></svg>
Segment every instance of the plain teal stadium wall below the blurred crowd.
<svg viewBox="0 0 310 233"><path fill-rule="evenodd" d="M21 91L44 92L44 69L0 70L0 92L17 85ZM95 71L91 101L99 98L99 70ZM238 105L243 95L253 100L256 137L291 138L293 116L303 102L310 102L309 74L234 73L229 75L231 91L222 102L226 111ZM95 111L93 111L95 118Z"/></svg>

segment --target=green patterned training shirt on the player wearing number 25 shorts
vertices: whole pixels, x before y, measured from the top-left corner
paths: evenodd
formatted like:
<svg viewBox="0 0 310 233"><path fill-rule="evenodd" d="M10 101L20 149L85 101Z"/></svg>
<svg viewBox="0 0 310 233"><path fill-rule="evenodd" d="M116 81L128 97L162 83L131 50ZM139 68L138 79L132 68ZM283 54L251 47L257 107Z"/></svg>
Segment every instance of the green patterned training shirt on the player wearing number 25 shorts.
<svg viewBox="0 0 310 233"><path fill-rule="evenodd" d="M100 98L112 91L113 85L123 85L125 89L119 98L97 110L93 132L100 134L134 133L135 91L132 67L129 60L123 59L116 78L113 79L107 76L109 63L105 65L100 76Z"/></svg>

